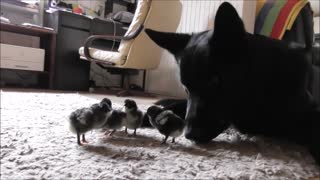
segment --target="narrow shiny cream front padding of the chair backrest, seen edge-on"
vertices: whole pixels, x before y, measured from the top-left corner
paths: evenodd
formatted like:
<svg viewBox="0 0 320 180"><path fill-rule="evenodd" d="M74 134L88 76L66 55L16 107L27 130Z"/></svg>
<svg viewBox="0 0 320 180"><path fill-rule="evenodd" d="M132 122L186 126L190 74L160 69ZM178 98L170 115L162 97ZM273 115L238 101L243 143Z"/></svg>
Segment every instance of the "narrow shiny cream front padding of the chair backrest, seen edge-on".
<svg viewBox="0 0 320 180"><path fill-rule="evenodd" d="M138 1L136 11L134 13L133 20L126 32L125 36L136 31L141 24L144 24L144 21L147 17L148 11L150 9L151 0L141 0ZM130 46L134 40L130 41L121 41L118 51L127 56L130 50Z"/></svg>

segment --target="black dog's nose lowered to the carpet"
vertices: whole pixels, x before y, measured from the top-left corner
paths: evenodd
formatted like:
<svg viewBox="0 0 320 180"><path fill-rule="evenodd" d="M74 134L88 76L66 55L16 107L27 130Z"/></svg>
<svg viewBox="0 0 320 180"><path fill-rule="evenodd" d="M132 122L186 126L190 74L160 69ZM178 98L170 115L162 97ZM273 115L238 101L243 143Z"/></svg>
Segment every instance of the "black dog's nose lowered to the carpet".
<svg viewBox="0 0 320 180"><path fill-rule="evenodd" d="M206 143L212 140L212 137L200 128L188 128L185 133L185 137L189 140L195 141L196 143Z"/></svg>

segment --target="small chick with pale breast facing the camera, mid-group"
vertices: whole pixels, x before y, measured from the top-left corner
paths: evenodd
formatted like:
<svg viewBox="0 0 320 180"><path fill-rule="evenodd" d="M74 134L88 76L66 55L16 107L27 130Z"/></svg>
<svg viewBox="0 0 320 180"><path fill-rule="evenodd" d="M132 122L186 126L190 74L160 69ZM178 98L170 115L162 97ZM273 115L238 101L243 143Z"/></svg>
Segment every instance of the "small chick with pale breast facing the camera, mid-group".
<svg viewBox="0 0 320 180"><path fill-rule="evenodd" d="M126 99L124 101L124 107L127 114L125 132L128 133L127 129L134 129L133 135L136 136L137 128L142 125L143 113L138 109L137 103L132 99Z"/></svg>

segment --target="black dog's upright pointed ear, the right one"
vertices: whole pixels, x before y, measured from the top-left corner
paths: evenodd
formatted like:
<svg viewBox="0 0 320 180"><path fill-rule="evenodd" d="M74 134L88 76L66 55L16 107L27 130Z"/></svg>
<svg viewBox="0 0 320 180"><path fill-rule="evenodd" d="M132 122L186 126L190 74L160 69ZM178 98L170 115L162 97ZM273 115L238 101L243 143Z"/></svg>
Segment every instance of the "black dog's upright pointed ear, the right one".
<svg viewBox="0 0 320 180"><path fill-rule="evenodd" d="M246 31L237 10L228 2L220 5L215 22L213 41L235 41L242 38ZM228 41L229 43L229 41Z"/></svg>

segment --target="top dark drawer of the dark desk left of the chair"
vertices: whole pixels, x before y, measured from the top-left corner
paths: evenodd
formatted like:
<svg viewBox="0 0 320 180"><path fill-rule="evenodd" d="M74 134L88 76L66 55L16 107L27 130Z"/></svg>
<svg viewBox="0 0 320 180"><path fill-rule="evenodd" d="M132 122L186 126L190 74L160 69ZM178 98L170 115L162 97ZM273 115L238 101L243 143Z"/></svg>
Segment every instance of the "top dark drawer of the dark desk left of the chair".
<svg viewBox="0 0 320 180"><path fill-rule="evenodd" d="M89 18L68 12L60 13L60 21L62 26L90 31L91 20Z"/></svg>

